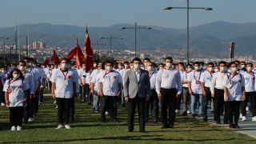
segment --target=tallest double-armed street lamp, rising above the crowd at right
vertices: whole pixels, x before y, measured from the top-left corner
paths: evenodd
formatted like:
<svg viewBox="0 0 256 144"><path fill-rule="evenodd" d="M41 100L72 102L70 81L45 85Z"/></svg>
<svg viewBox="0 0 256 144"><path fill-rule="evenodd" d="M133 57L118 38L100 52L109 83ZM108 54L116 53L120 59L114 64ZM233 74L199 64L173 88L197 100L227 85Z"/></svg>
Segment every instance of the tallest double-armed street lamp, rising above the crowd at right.
<svg viewBox="0 0 256 144"><path fill-rule="evenodd" d="M166 7L163 10L172 9L186 9L186 64L189 63L189 10L190 9L202 9L202 10L213 10L210 7L190 7L189 0L186 0L186 7Z"/></svg>

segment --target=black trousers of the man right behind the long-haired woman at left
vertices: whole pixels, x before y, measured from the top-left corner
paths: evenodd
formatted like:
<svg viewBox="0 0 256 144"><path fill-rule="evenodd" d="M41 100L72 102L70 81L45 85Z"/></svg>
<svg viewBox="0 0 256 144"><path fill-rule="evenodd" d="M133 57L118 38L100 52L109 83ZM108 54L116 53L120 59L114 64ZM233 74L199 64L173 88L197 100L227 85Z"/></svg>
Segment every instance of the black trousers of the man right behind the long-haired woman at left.
<svg viewBox="0 0 256 144"><path fill-rule="evenodd" d="M30 90L27 90L29 95L26 101L26 106L24 106L24 122L27 122L29 118L33 117L33 97L30 98Z"/></svg>

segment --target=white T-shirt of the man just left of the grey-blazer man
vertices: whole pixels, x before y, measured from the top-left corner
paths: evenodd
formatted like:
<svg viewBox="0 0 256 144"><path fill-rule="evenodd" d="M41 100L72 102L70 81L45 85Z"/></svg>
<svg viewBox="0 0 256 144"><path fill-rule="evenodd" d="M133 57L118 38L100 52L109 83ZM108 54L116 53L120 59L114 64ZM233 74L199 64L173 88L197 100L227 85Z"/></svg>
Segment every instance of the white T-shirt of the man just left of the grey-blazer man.
<svg viewBox="0 0 256 144"><path fill-rule="evenodd" d="M118 95L118 84L122 84L122 77L117 71L105 72L99 75L100 81L102 80L102 92L104 96L117 96Z"/></svg>

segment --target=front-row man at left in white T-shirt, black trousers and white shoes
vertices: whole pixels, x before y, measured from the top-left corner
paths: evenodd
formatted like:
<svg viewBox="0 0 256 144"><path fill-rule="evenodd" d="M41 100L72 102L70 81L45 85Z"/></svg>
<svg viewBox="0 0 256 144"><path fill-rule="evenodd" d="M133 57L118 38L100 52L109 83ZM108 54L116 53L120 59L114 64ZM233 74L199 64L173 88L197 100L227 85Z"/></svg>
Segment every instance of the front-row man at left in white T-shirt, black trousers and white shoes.
<svg viewBox="0 0 256 144"><path fill-rule="evenodd" d="M77 77L73 71L69 70L67 58L61 58L61 69L55 70L52 75L52 97L56 99L58 105L58 127L62 129L63 126L63 110L65 110L66 129L70 129L70 108L72 98L76 96L76 81Z"/></svg>

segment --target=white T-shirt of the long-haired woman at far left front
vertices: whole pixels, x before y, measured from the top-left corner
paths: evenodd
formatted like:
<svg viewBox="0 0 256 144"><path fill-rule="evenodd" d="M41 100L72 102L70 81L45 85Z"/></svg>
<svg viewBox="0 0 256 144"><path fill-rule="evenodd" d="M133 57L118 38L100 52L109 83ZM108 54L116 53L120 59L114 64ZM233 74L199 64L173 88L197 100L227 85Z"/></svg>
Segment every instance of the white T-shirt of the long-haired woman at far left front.
<svg viewBox="0 0 256 144"><path fill-rule="evenodd" d="M28 90L29 88L29 83L26 82L26 80L23 80L23 83L22 79L19 79L18 81L6 80L2 91L7 91L7 89L11 90L9 94L10 106L7 107L26 106L22 101L25 98L24 90Z"/></svg>

